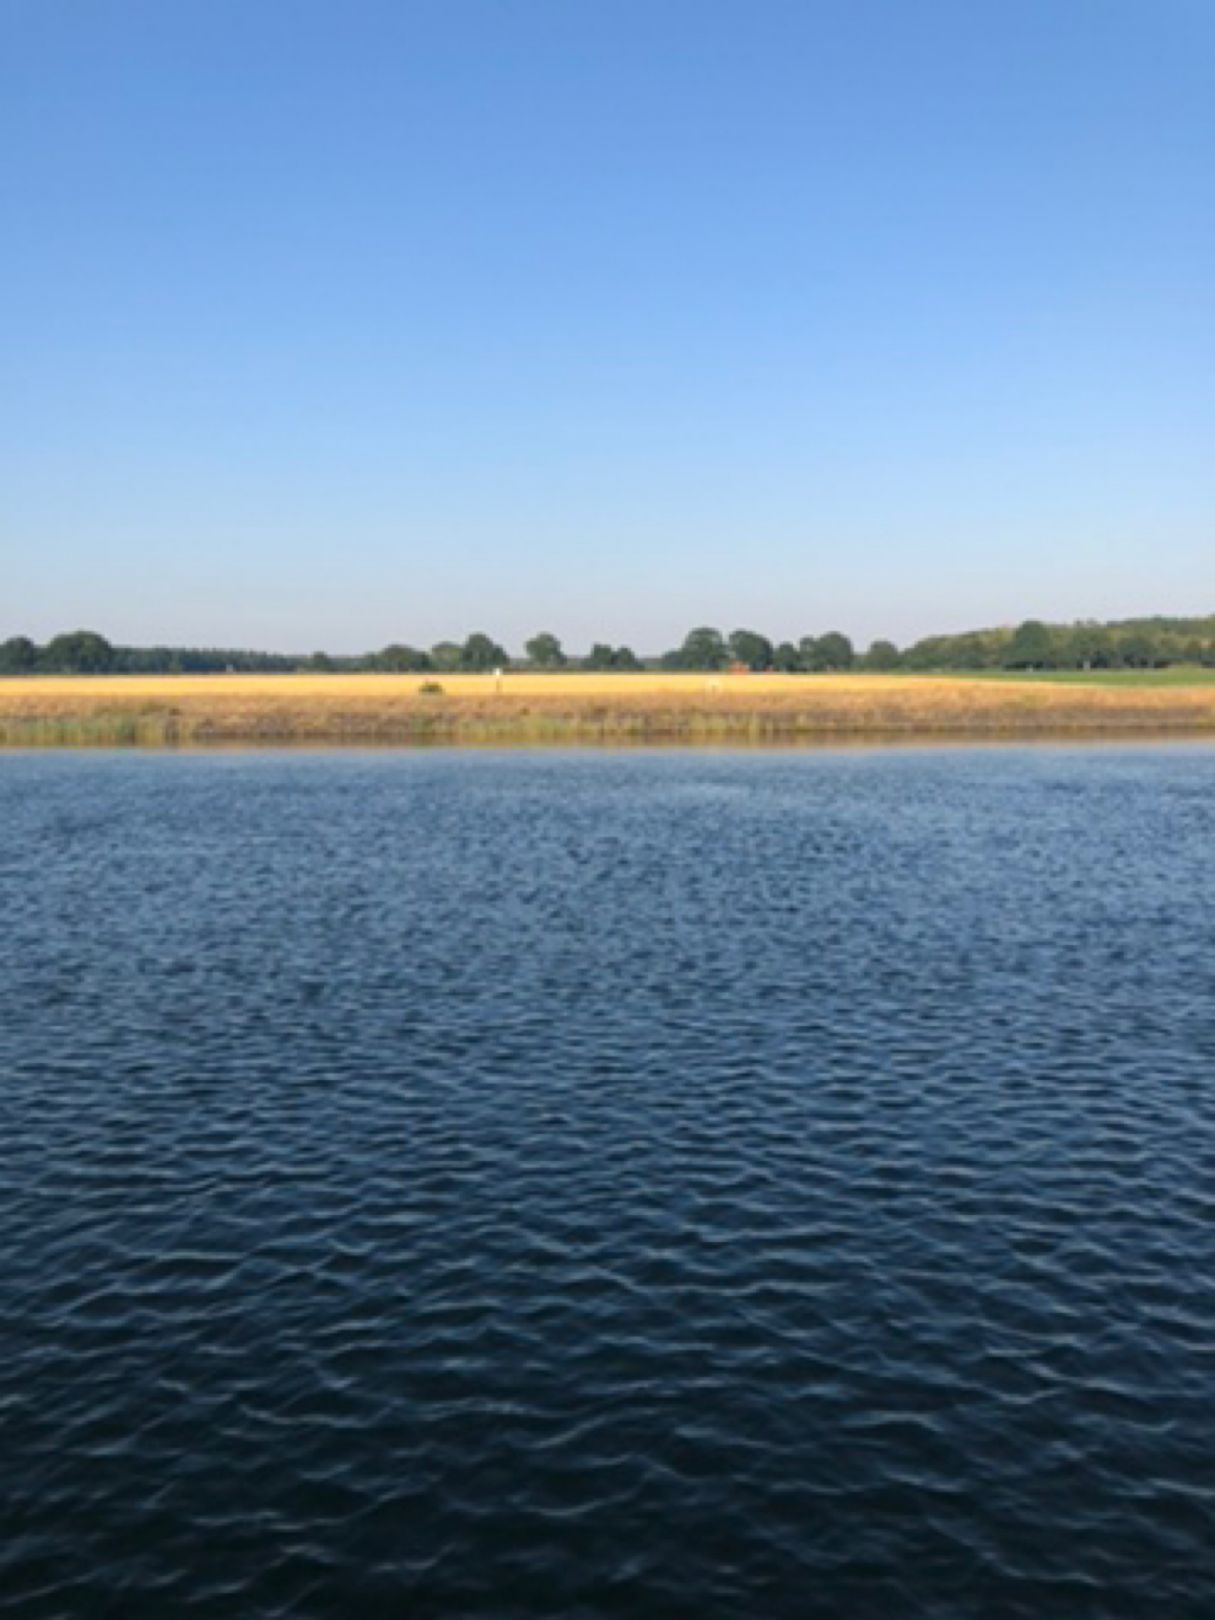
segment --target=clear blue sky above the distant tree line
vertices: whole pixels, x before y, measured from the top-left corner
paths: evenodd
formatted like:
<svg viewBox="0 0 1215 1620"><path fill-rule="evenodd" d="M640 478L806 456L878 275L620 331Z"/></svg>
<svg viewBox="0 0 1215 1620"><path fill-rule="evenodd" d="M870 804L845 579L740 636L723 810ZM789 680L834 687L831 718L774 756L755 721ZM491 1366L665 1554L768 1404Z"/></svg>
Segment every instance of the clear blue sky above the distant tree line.
<svg viewBox="0 0 1215 1620"><path fill-rule="evenodd" d="M1215 611L1212 0L0 0L0 637Z"/></svg>

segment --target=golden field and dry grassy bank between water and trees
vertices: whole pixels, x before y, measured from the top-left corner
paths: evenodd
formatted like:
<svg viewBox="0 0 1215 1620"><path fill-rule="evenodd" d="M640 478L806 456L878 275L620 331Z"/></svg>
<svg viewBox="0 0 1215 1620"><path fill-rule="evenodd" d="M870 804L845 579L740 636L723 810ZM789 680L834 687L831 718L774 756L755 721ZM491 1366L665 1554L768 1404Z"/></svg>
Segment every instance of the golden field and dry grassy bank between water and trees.
<svg viewBox="0 0 1215 1620"><path fill-rule="evenodd" d="M1215 685L666 672L0 680L6 745L723 744L1153 732L1215 734Z"/></svg>

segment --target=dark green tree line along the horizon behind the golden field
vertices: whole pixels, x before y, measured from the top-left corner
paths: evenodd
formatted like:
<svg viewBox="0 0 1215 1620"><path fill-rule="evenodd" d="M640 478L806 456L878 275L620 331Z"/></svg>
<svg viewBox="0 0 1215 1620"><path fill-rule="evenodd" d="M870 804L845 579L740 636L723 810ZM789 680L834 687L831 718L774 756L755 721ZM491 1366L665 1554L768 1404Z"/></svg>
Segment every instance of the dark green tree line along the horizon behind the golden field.
<svg viewBox="0 0 1215 1620"><path fill-rule="evenodd" d="M512 658L491 635L476 632L463 642L431 648L392 643L376 653L251 653L233 648L115 646L94 630L71 630L44 646L15 635L0 642L0 674L204 674L220 671L436 671L505 669L692 669L731 667L797 671L983 671L983 669L1163 669L1168 664L1215 666L1215 616L1202 619L1123 619L1111 624L1043 624L1027 619L1014 629L930 635L907 648L873 642L857 651L847 635L828 630L799 642L771 642L758 630L729 635L711 627L690 630L682 645L653 658L629 646L596 642L573 656L544 630L533 635L522 658Z"/></svg>

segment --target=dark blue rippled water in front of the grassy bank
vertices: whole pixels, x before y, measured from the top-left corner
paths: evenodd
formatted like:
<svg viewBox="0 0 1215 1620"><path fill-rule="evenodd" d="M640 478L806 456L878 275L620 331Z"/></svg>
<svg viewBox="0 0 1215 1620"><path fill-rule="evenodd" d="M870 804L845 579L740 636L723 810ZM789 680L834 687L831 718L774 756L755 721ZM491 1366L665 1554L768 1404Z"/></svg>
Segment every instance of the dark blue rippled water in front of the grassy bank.
<svg viewBox="0 0 1215 1620"><path fill-rule="evenodd" d="M0 758L0 1612L1210 1615L1215 750Z"/></svg>

